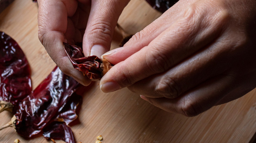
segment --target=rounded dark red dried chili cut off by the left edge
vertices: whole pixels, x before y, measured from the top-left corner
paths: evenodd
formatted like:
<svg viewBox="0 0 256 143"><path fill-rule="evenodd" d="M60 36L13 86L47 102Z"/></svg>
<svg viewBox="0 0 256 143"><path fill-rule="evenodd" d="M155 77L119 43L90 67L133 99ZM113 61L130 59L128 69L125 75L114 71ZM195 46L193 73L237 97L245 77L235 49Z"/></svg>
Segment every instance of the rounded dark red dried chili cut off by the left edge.
<svg viewBox="0 0 256 143"><path fill-rule="evenodd" d="M15 40L0 31L0 101L10 102L16 108L31 90L31 70L26 56Z"/></svg>

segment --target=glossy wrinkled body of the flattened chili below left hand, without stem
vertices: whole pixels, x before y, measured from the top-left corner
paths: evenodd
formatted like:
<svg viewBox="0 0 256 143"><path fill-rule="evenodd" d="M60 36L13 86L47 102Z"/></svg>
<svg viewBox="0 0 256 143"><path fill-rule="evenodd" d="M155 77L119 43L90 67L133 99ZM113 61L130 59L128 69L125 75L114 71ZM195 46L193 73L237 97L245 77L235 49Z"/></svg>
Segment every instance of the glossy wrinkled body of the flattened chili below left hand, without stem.
<svg viewBox="0 0 256 143"><path fill-rule="evenodd" d="M31 137L42 131L61 112L79 83L58 67L27 96L16 111L15 129Z"/></svg>

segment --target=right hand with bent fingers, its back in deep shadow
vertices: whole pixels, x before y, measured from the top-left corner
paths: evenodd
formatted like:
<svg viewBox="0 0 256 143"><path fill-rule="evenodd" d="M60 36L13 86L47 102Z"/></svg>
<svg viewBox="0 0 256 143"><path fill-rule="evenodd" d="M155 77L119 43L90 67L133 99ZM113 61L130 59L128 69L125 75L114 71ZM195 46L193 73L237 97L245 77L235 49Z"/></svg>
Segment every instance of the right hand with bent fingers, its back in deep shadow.
<svg viewBox="0 0 256 143"><path fill-rule="evenodd" d="M195 116L256 87L256 1L180 0L123 47L103 92L123 87L168 112Z"/></svg>

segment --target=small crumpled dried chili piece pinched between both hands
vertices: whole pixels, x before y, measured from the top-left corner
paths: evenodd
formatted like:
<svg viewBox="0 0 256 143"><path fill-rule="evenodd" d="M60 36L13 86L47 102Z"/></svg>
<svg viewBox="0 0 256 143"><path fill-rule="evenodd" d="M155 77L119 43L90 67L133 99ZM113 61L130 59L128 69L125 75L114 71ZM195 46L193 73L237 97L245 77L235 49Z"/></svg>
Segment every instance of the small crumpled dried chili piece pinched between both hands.
<svg viewBox="0 0 256 143"><path fill-rule="evenodd" d="M87 75L90 79L101 79L106 71L112 67L107 60L102 60L97 56L85 57L82 48L79 46L68 43L63 43L63 45L73 67Z"/></svg>

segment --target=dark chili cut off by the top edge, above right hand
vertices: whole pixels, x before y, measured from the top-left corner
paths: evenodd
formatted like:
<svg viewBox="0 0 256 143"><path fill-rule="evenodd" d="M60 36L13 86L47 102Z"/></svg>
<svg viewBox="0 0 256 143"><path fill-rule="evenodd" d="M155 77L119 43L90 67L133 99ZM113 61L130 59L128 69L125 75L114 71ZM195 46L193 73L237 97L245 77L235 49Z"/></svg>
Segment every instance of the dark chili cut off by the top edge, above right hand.
<svg viewBox="0 0 256 143"><path fill-rule="evenodd" d="M151 7L164 13L167 9L172 7L179 0L146 0Z"/></svg>

